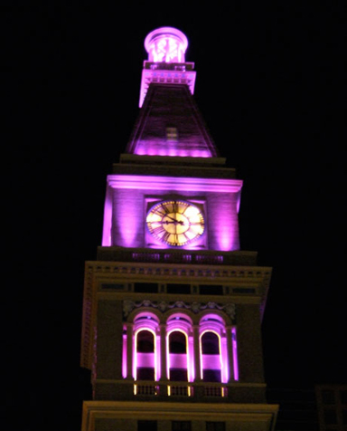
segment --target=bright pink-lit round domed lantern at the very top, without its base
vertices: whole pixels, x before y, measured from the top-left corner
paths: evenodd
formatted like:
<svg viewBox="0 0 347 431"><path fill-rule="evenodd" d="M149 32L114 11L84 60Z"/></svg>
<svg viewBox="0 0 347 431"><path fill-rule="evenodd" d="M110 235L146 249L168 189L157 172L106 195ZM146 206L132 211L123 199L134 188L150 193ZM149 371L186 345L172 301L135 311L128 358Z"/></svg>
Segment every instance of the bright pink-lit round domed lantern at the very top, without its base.
<svg viewBox="0 0 347 431"><path fill-rule="evenodd" d="M145 38L149 62L184 62L188 46L186 36L176 28L157 28Z"/></svg>

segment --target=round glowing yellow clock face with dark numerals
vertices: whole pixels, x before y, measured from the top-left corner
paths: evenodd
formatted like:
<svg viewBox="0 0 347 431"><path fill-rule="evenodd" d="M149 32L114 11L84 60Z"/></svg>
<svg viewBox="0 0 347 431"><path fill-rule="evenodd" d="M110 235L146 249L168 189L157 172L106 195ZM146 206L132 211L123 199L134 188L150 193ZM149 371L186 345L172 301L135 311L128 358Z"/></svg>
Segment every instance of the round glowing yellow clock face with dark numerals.
<svg viewBox="0 0 347 431"><path fill-rule="evenodd" d="M164 201L153 206L145 222L156 239L176 247L191 243L202 236L204 231L201 210L179 200Z"/></svg>

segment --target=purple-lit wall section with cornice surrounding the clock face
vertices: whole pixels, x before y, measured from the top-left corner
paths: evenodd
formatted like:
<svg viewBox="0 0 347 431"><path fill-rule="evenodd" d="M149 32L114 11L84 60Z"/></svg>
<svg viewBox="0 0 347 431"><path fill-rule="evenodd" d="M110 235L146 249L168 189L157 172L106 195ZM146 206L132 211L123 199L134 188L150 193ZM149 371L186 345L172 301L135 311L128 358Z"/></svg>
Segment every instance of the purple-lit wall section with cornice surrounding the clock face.
<svg viewBox="0 0 347 431"><path fill-rule="evenodd" d="M122 247L169 248L152 241L145 242L145 202L148 195L192 193L209 194L207 205L207 235L202 238L210 250L239 250L238 209L242 181L239 179L198 177L108 176L108 188L104 212L102 245ZM148 234L149 235L149 234ZM207 241L208 238L208 241ZM150 245L149 243L152 243ZM200 244L187 244L183 249L196 249Z"/></svg>

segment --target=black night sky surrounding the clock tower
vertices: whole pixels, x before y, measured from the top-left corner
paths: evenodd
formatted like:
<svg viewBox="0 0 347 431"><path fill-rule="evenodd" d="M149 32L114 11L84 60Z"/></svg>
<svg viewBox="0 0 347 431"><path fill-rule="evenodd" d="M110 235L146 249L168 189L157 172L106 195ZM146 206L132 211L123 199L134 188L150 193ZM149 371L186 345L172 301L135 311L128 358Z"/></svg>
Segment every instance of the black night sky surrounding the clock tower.
<svg viewBox="0 0 347 431"><path fill-rule="evenodd" d="M269 386L347 380L342 11L150 7L2 11L5 410L17 412L20 394L27 430L60 409L58 423L79 429L84 262L96 258L106 177L137 117L145 36L159 26L188 37L195 100L244 180L241 248L273 267Z"/></svg>

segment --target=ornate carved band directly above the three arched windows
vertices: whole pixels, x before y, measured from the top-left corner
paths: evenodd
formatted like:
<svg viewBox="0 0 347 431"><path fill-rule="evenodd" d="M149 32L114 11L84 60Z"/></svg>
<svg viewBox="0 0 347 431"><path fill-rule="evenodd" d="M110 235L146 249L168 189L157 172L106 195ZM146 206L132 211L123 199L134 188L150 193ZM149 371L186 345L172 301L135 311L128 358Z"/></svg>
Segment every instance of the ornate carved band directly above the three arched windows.
<svg viewBox="0 0 347 431"><path fill-rule="evenodd" d="M187 302L183 302L183 301L155 302L155 301L145 300L145 301L138 301L138 302L124 301L123 302L124 317L127 317L131 311L133 311L136 308L140 308L140 307L155 308L155 309L162 311L162 312L172 310L174 308L178 308L178 309L190 310L194 314L197 314L197 313L199 313L201 311L205 311L205 310L219 310L219 311L224 311L226 314L228 314L228 316L230 316L230 319L232 321L235 320L235 315L236 315L236 307L235 307L234 303L227 303L227 304L218 304L216 302L191 302L191 303L187 303Z"/></svg>

